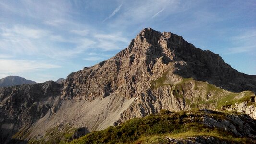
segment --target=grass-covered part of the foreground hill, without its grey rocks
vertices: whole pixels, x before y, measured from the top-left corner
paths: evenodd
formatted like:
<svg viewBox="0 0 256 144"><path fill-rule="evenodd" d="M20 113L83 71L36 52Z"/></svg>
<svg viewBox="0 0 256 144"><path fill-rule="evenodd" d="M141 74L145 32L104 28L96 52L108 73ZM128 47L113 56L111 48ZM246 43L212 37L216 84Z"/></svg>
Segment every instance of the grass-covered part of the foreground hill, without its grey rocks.
<svg viewBox="0 0 256 144"><path fill-rule="evenodd" d="M249 138L238 138L223 129L209 128L201 124L202 115L214 119L225 119L228 113L208 114L201 111L176 112L166 114L162 110L159 115L134 118L127 122L95 131L72 141L70 144L165 144L165 137L188 138L195 136L211 136L229 143L251 143Z"/></svg>

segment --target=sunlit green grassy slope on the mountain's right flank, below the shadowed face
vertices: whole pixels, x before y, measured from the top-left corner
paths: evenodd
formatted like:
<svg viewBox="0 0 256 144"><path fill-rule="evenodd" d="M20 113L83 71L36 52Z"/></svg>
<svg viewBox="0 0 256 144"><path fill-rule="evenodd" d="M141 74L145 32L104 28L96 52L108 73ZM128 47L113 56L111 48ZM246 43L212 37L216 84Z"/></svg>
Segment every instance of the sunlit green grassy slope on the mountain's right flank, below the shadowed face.
<svg viewBox="0 0 256 144"><path fill-rule="evenodd" d="M191 105L191 108L212 108L212 105L214 105L216 109L220 109L224 106L234 105L235 103L248 102L255 97L252 91L234 93L208 84L207 82L195 81L192 78L183 78L178 84L168 84L167 75L168 72L165 72L162 77L152 81L151 87L157 89L164 86L171 86L171 93L176 97L185 99L186 105ZM187 91L194 91L193 99L184 96L184 92Z"/></svg>

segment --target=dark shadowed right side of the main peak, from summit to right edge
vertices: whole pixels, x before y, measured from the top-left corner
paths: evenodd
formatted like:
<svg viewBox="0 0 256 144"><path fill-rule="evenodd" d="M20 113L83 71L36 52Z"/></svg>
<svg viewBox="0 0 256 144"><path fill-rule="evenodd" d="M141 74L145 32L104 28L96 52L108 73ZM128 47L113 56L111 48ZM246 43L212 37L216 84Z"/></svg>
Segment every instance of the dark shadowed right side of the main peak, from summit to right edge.
<svg viewBox="0 0 256 144"><path fill-rule="evenodd" d="M139 43L140 39L146 39L146 42L151 44L146 47L148 58L146 63L149 69L152 69L150 64L155 63L156 58L162 57L163 63L174 63L174 74L183 78L207 81L209 84L232 92L245 90L256 92L256 76L238 72L225 63L218 54L196 48L182 36L145 28L137 36L135 43ZM141 45L144 45L144 42Z"/></svg>

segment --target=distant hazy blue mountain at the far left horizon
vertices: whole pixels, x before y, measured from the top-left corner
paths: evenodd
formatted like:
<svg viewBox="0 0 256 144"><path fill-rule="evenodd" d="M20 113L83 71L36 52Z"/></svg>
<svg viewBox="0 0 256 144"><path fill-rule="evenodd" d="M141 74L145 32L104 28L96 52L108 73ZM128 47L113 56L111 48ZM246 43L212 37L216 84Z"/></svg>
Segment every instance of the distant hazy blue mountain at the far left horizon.
<svg viewBox="0 0 256 144"><path fill-rule="evenodd" d="M21 84L36 84L36 82L27 80L19 76L7 76L5 78L0 79L0 87L15 86Z"/></svg>

